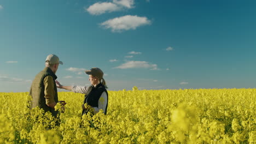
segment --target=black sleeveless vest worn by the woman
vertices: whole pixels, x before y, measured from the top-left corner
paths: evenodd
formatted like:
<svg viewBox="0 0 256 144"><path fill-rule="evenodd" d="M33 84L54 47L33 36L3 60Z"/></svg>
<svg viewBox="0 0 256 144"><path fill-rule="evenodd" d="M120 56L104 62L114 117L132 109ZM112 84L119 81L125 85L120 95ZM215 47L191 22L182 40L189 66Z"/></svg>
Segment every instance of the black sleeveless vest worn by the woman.
<svg viewBox="0 0 256 144"><path fill-rule="evenodd" d="M102 83L99 83L96 87L91 86L91 92L89 94L84 95L84 104L87 102L88 105L92 107L98 107L98 100L101 97L101 94L103 92L107 93L107 106L104 114L107 114L107 109L108 109L108 92L107 89L102 85Z"/></svg>

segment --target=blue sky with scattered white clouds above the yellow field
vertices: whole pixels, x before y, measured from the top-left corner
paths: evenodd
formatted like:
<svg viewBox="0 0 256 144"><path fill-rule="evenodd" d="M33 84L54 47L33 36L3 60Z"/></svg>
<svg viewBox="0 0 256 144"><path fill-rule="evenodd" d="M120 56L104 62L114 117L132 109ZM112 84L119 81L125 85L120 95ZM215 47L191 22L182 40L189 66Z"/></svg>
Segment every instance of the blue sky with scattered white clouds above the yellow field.
<svg viewBox="0 0 256 144"><path fill-rule="evenodd" d="M254 88L256 2L0 0L0 92L26 92L53 53L63 85ZM60 90L60 89L59 89Z"/></svg>

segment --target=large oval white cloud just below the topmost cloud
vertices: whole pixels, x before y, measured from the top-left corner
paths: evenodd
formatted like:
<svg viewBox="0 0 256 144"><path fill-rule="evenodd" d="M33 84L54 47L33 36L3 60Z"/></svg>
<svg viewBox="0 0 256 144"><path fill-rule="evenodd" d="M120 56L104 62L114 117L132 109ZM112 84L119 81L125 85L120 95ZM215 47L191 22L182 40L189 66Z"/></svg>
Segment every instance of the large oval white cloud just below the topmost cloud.
<svg viewBox="0 0 256 144"><path fill-rule="evenodd" d="M112 32L122 32L130 29L134 30L139 26L150 25L150 23L147 17L126 15L107 20L100 25L107 29L110 28Z"/></svg>

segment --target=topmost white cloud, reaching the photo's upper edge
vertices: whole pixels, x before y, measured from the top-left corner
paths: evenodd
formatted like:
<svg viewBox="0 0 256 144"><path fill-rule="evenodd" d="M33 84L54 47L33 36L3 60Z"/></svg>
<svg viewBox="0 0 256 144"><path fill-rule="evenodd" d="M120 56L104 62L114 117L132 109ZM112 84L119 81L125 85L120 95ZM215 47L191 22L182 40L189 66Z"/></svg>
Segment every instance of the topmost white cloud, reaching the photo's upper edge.
<svg viewBox="0 0 256 144"><path fill-rule="evenodd" d="M133 8L134 0L113 0L112 2L98 2L90 5L89 8L84 10L88 11L91 15L101 15L104 13L111 13L113 11L123 10L124 8Z"/></svg>

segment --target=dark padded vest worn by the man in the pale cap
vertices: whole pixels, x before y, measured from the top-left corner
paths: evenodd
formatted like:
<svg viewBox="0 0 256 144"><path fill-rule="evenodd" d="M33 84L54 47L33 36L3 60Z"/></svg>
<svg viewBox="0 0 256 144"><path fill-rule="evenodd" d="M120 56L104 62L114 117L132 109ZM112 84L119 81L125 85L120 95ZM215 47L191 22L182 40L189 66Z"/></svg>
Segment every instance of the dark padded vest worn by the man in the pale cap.
<svg viewBox="0 0 256 144"><path fill-rule="evenodd" d="M30 95L32 96L32 103L31 108L34 108L36 106L39 106L41 109L43 109L45 112L50 111L53 116L57 116L57 111L46 105L45 101L45 94L44 94L44 78L46 76L52 76L54 80L54 100L57 103L58 100L58 93L57 93L57 86L55 80L57 79L57 76L53 73L53 71L45 67L44 70L40 71L36 77L34 78L32 85L31 85L31 91Z"/></svg>

